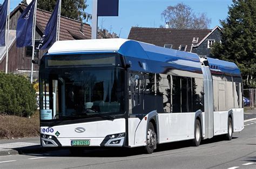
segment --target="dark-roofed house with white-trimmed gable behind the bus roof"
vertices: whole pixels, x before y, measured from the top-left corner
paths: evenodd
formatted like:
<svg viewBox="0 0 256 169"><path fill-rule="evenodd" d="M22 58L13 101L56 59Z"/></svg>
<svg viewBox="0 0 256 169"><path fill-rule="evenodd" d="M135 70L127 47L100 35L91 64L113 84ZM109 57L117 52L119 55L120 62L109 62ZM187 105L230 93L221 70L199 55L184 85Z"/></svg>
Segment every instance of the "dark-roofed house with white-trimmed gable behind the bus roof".
<svg viewBox="0 0 256 169"><path fill-rule="evenodd" d="M211 57L213 43L221 42L221 29L171 29L132 27L128 39L143 41L174 50L197 53L200 57Z"/></svg>

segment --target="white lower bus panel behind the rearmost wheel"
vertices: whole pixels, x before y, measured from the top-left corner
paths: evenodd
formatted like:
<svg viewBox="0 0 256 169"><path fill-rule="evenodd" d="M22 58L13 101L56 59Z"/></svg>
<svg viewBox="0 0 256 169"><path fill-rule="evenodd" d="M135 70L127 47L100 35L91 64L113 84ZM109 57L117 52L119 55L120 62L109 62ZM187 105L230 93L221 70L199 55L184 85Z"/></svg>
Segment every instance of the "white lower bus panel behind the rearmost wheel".
<svg viewBox="0 0 256 169"><path fill-rule="evenodd" d="M237 108L233 110L233 131L238 132L244 129L244 109Z"/></svg>

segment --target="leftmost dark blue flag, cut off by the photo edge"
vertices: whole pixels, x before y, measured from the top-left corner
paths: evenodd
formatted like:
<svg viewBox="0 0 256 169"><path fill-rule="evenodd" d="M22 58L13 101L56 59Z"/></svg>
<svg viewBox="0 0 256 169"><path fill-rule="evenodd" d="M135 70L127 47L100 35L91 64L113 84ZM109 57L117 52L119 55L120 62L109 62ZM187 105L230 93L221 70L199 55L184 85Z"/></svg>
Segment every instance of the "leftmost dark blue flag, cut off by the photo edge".
<svg viewBox="0 0 256 169"><path fill-rule="evenodd" d="M8 0L5 0L0 8L0 46L5 46L5 28L8 11Z"/></svg>

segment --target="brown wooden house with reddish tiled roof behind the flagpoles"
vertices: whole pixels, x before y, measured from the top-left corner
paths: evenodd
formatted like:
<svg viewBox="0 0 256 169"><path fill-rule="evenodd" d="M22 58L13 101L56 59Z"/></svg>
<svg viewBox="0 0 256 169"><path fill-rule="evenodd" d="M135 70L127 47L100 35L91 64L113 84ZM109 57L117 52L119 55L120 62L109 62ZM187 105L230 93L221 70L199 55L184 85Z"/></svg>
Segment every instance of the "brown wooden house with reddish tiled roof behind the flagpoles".
<svg viewBox="0 0 256 169"><path fill-rule="evenodd" d="M17 48L16 47L16 27L17 20L21 13L26 8L26 5L19 4L10 13L10 32L9 32L9 57L8 57L8 72L30 74L32 46ZM36 18L36 41L38 46L46 24L51 17L51 12L37 9ZM91 26L79 22L78 20L67 17L60 18L60 33L59 40L76 40L76 39L91 39ZM41 58L47 50L36 50L35 59ZM0 70L5 70L6 47L0 47ZM35 77L38 76L38 65L34 65Z"/></svg>

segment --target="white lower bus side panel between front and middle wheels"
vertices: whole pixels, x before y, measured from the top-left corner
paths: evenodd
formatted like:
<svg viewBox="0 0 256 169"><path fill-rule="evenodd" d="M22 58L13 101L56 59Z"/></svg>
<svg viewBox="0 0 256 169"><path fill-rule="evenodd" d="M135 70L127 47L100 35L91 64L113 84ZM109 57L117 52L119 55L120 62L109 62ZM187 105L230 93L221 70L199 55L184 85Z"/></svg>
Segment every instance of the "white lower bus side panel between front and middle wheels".
<svg viewBox="0 0 256 169"><path fill-rule="evenodd" d="M158 117L159 143L194 138L194 112L158 114Z"/></svg>

